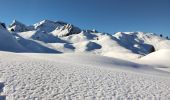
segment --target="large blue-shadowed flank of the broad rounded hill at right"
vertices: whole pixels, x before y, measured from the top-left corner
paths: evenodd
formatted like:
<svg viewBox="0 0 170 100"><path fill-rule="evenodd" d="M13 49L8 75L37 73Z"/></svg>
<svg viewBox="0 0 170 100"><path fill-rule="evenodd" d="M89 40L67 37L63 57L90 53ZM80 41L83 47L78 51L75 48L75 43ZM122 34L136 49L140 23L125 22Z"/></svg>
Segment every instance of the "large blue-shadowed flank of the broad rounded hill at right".
<svg viewBox="0 0 170 100"><path fill-rule="evenodd" d="M138 32L134 32L131 34L121 33L118 41L123 47L131 50L133 53L136 54L145 55L154 52L155 47L152 44L145 43L145 40L139 38L138 35L145 34L141 34Z"/></svg>

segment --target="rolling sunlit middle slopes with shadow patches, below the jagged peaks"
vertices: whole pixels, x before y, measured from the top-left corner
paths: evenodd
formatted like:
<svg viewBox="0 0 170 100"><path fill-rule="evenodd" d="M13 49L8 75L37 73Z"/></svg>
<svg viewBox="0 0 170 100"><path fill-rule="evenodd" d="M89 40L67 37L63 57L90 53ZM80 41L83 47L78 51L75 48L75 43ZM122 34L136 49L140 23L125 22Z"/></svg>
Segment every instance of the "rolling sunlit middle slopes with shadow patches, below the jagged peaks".
<svg viewBox="0 0 170 100"><path fill-rule="evenodd" d="M41 31L27 31L17 34L28 40L41 41L44 45L47 45L47 47L62 53L86 52L127 59L136 59L141 56L140 54L135 54L130 49L123 47L115 37L104 33L82 31L79 34L72 34L63 37L56 37L54 34L43 33Z"/></svg>

